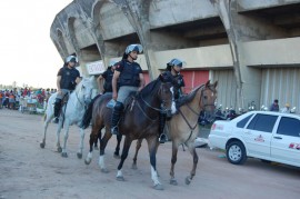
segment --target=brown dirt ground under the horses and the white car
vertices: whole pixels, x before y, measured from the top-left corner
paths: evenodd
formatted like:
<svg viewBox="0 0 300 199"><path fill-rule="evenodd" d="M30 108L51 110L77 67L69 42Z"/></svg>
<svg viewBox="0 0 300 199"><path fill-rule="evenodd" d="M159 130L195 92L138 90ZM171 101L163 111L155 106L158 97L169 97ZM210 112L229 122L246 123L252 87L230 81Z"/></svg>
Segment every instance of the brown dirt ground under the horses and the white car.
<svg viewBox="0 0 300 199"><path fill-rule="evenodd" d="M86 131L83 159L88 153L90 129ZM40 148L42 117L0 109L0 198L299 198L300 169L262 163L248 159L243 166L229 163L223 153L198 148L199 163L188 186L192 158L180 150L176 165L178 186L169 185L171 142L161 145L157 167L164 190L152 189L146 142L138 158L138 170L131 169L136 142L123 166L126 181L117 181L118 159L112 153L116 138L107 147L109 173L100 172L99 150L91 165L76 156L79 142L77 127L70 129L68 158L56 152L56 125L50 125L46 148Z"/></svg>

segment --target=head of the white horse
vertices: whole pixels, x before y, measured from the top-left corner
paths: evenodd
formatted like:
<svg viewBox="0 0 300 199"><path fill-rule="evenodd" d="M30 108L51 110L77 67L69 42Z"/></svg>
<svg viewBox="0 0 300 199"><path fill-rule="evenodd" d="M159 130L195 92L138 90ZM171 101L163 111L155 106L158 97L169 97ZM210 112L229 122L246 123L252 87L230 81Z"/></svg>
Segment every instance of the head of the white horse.
<svg viewBox="0 0 300 199"><path fill-rule="evenodd" d="M78 98L82 100L86 106L88 106L91 102L93 80L94 80L93 77L83 78L76 88Z"/></svg>

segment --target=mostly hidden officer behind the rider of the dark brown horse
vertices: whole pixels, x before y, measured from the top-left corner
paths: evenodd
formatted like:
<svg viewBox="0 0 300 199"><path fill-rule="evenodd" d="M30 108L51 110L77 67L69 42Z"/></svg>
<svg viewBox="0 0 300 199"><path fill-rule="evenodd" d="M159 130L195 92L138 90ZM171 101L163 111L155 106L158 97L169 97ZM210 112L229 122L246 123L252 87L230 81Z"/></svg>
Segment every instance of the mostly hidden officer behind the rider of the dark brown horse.
<svg viewBox="0 0 300 199"><path fill-rule="evenodd" d="M112 77L113 77L113 72L116 70L117 63L118 61L110 61L108 69L97 78L97 83L98 83L98 88L100 92L102 93L112 92ZM104 84L102 88L101 82L103 79L104 79Z"/></svg>

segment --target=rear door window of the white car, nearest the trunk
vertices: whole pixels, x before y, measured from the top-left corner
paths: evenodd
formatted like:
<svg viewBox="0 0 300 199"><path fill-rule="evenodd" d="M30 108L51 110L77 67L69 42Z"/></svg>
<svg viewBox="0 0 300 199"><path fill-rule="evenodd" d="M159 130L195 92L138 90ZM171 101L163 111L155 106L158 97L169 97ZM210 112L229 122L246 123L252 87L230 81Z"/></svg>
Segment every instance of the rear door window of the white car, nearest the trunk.
<svg viewBox="0 0 300 199"><path fill-rule="evenodd" d="M258 113L251 120L247 129L272 132L278 116L260 115Z"/></svg>

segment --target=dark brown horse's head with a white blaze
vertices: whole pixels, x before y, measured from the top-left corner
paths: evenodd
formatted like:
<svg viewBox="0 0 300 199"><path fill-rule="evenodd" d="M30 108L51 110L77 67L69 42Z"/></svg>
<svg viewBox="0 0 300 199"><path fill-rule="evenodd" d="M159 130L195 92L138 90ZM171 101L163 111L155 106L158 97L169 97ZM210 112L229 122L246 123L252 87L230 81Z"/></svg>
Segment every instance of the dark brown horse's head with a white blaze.
<svg viewBox="0 0 300 199"><path fill-rule="evenodd" d="M171 117L176 112L173 77L163 72L158 79L161 81L158 96L161 101L162 112L166 112L167 117Z"/></svg>

